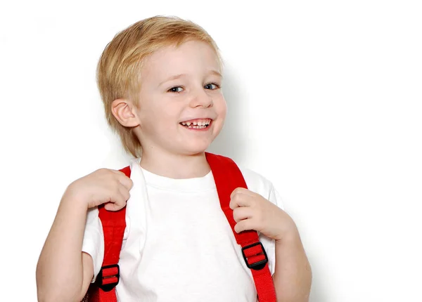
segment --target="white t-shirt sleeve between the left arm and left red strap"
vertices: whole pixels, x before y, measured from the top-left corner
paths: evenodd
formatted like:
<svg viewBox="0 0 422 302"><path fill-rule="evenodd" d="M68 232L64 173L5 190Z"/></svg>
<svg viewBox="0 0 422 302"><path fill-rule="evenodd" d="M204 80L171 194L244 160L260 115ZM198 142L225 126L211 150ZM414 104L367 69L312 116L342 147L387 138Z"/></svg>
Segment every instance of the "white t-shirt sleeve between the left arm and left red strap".
<svg viewBox="0 0 422 302"><path fill-rule="evenodd" d="M87 222L85 223L84 240L82 242L82 251L91 255L94 262L94 282L98 275L104 257L104 234L100 218L98 218L98 208L88 210Z"/></svg>

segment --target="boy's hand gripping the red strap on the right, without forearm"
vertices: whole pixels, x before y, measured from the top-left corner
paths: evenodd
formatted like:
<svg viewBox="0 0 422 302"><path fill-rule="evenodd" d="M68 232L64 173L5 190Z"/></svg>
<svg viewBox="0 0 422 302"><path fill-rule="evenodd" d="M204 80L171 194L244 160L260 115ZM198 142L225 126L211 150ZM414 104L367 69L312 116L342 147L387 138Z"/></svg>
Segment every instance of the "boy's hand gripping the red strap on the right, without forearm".
<svg viewBox="0 0 422 302"><path fill-rule="evenodd" d="M297 232L293 219L261 195L245 188L236 188L230 198L236 232L256 230L275 240Z"/></svg>

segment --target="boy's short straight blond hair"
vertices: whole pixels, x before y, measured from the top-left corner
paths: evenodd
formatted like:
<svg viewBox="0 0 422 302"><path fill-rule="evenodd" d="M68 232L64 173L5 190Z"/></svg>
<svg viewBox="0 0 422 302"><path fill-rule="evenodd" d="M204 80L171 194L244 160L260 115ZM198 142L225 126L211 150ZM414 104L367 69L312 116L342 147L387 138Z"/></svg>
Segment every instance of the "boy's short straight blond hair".
<svg viewBox="0 0 422 302"><path fill-rule="evenodd" d="M118 98L129 98L137 105L143 60L162 47L180 46L191 40L212 46L222 65L217 44L205 29L188 20L164 16L141 20L116 34L98 61L97 84L107 122L120 136L124 150L134 157L141 156L141 142L132 128L122 126L113 116L111 103Z"/></svg>

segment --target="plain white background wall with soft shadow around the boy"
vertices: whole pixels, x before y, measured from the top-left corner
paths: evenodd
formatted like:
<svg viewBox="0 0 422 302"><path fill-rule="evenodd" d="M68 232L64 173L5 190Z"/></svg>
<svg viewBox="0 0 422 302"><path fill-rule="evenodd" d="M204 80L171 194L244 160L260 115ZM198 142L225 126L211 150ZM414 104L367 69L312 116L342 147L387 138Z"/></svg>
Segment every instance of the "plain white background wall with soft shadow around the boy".
<svg viewBox="0 0 422 302"><path fill-rule="evenodd" d="M221 48L229 115L210 151L279 190L311 301L422 301L421 2L373 0L2 1L0 300L36 301L66 186L127 164L96 63L114 34L158 14Z"/></svg>

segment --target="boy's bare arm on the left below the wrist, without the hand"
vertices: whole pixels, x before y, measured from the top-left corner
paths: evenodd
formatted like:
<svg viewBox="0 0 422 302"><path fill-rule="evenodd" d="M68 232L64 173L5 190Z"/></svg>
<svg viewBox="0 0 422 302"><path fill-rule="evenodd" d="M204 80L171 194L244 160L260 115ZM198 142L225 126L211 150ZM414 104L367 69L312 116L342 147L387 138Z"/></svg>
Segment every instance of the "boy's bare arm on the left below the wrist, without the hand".
<svg viewBox="0 0 422 302"><path fill-rule="evenodd" d="M39 301L81 301L94 275L82 253L87 206L63 196L37 264Z"/></svg>

